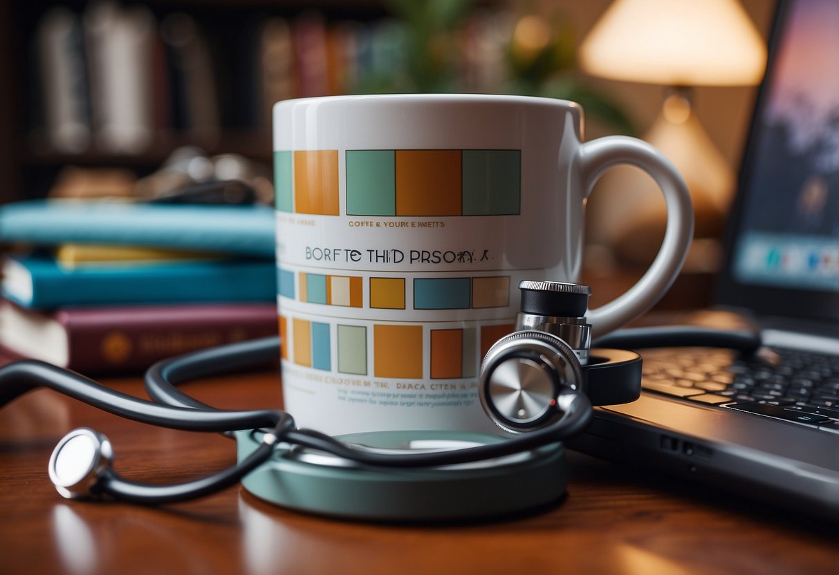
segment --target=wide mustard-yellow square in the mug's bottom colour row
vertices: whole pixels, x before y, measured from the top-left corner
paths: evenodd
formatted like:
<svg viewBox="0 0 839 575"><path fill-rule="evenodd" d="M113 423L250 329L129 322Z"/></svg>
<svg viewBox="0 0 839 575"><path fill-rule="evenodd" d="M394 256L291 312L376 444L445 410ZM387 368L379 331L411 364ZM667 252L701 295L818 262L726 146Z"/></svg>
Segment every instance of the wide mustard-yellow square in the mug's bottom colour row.
<svg viewBox="0 0 839 575"><path fill-rule="evenodd" d="M422 379L421 325L373 325L373 375Z"/></svg>

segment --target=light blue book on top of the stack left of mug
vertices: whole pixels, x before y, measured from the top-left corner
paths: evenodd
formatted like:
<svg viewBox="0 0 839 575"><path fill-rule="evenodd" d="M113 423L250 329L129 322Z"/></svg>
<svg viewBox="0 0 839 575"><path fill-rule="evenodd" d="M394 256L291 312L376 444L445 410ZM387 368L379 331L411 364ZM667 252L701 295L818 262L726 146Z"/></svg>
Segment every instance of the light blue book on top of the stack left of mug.
<svg viewBox="0 0 839 575"><path fill-rule="evenodd" d="M0 241L121 244L274 257L266 205L163 205L34 199L0 206Z"/></svg>

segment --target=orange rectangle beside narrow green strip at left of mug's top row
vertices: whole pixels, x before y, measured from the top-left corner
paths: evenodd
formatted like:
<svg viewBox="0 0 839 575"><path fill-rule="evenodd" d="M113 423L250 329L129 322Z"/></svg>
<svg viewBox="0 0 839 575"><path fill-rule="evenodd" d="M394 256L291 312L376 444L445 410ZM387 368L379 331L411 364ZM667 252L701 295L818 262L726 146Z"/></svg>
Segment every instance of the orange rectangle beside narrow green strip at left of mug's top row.
<svg viewBox="0 0 839 575"><path fill-rule="evenodd" d="M294 151L294 211L338 215L338 151Z"/></svg>

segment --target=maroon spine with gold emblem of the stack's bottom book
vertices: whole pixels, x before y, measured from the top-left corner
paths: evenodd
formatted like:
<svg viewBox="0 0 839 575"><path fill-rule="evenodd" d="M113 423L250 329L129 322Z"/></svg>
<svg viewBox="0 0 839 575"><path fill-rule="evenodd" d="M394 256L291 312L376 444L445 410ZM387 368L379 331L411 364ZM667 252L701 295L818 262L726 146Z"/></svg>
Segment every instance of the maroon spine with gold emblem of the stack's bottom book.
<svg viewBox="0 0 839 575"><path fill-rule="evenodd" d="M70 346L67 367L86 374L136 373L176 355L278 334L275 313L193 325L163 321L113 325L70 319L65 329Z"/></svg>

